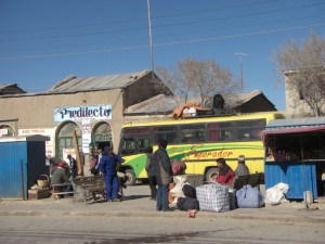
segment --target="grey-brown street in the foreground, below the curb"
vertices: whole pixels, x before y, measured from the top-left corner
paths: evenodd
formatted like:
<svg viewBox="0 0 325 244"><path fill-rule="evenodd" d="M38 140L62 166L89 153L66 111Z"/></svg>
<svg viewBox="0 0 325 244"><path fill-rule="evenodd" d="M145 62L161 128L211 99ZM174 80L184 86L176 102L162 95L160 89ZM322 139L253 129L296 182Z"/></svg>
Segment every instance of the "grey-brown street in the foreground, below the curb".
<svg viewBox="0 0 325 244"><path fill-rule="evenodd" d="M0 243L324 243L322 223L218 218L2 216Z"/></svg>

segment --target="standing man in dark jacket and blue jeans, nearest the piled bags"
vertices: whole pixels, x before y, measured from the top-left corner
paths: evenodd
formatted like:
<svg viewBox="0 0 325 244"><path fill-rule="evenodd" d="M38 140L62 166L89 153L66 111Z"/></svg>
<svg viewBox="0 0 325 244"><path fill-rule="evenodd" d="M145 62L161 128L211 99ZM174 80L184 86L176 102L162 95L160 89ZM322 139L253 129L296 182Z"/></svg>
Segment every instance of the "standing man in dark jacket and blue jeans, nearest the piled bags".
<svg viewBox="0 0 325 244"><path fill-rule="evenodd" d="M169 183L172 182L172 170L170 158L167 154L167 141L160 139L158 150L154 153L154 171L158 184L157 190L157 210L169 211L168 194Z"/></svg>

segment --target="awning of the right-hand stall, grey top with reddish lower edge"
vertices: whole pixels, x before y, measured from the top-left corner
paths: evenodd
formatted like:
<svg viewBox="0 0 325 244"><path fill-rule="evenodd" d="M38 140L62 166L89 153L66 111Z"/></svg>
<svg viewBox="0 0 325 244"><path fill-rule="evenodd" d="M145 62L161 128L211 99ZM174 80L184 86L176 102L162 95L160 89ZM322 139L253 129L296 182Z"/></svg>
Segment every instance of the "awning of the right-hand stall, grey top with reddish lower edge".
<svg viewBox="0 0 325 244"><path fill-rule="evenodd" d="M271 134L304 133L313 131L325 133L325 117L275 119L266 125L265 130L261 131L260 136L263 143L265 143L268 137Z"/></svg>

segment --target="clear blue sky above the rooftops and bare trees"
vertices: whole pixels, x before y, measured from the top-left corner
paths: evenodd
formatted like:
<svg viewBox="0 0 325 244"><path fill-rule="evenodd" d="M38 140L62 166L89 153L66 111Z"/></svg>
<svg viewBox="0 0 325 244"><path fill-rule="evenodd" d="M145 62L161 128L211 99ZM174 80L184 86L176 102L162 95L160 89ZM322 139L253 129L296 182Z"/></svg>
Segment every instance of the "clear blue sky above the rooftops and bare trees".
<svg viewBox="0 0 325 244"><path fill-rule="evenodd" d="M323 0L151 0L154 63L216 60L285 110L271 62L286 40L324 37ZM28 92L77 77L151 69L146 0L0 0L0 84Z"/></svg>

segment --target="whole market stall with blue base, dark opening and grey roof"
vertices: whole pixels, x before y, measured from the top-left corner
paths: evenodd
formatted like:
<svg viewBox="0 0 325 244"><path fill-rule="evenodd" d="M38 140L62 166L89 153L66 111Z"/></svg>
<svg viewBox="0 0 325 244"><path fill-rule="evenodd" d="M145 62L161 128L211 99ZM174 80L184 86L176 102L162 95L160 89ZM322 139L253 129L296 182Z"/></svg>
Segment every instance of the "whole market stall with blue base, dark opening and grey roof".
<svg viewBox="0 0 325 244"><path fill-rule="evenodd" d="M325 117L271 120L261 137L266 189L283 182L288 200L324 196Z"/></svg>

